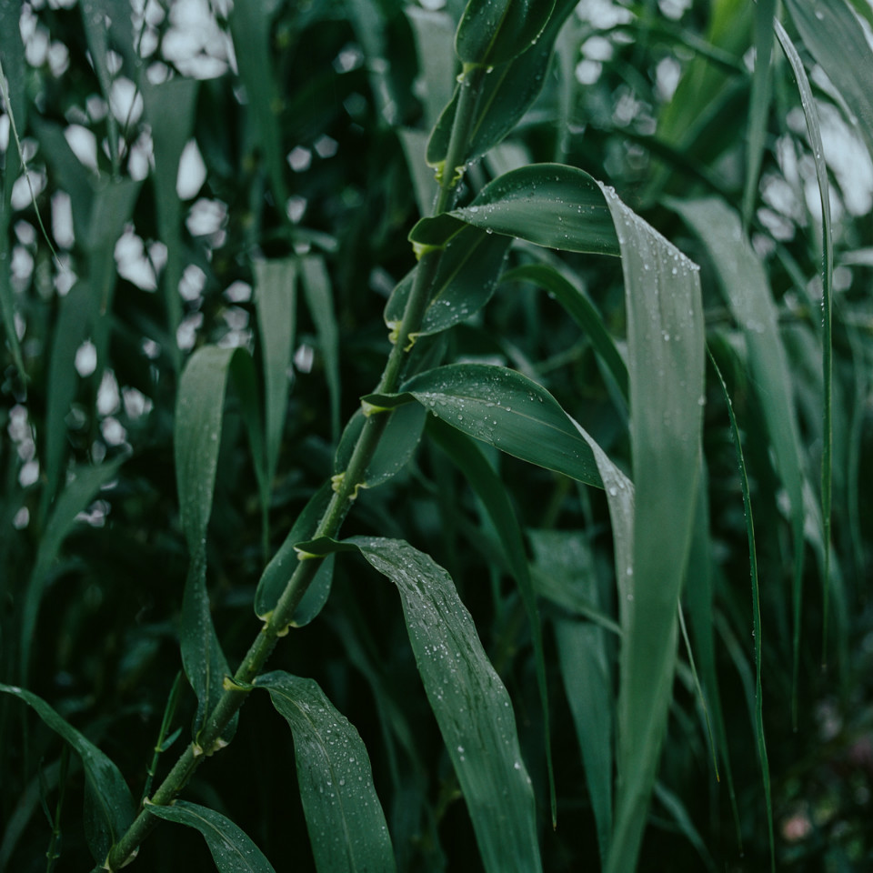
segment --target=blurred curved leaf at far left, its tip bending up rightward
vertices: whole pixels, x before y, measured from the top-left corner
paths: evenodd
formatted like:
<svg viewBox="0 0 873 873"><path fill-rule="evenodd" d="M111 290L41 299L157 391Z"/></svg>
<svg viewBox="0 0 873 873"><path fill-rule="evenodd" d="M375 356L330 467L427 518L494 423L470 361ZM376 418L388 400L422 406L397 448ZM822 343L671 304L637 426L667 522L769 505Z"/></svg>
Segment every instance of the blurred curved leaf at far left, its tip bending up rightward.
<svg viewBox="0 0 873 873"><path fill-rule="evenodd" d="M20 674L26 682L30 672L30 657L34 645L36 618L43 599L45 581L65 538L75 526L76 516L94 500L97 492L118 473L125 458L116 458L99 467L75 467L64 490L55 502L45 525L36 552L36 562L30 575L21 610Z"/></svg>

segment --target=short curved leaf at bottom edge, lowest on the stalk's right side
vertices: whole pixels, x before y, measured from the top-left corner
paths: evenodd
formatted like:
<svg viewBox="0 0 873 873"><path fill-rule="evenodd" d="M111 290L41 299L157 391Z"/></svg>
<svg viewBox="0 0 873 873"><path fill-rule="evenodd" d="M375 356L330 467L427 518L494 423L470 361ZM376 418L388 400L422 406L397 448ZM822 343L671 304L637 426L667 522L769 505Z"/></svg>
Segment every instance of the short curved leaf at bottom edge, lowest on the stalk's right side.
<svg viewBox="0 0 873 873"><path fill-rule="evenodd" d="M174 800L166 807L146 802L146 809L157 818L199 830L212 852L218 873L275 873L252 838L215 809L187 800Z"/></svg>

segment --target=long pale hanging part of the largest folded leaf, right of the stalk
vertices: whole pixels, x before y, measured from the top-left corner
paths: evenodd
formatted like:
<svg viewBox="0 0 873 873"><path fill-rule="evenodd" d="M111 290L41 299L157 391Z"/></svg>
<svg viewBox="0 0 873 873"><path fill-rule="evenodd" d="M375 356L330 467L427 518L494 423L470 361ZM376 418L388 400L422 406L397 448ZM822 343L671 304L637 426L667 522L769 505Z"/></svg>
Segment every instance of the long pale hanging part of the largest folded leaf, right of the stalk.
<svg viewBox="0 0 873 873"><path fill-rule="evenodd" d="M609 484L608 459L595 449L613 521L623 630L617 747L622 778L607 861L607 870L617 873L636 866L672 699L677 604L701 457L704 329L697 265L613 191L604 188L603 193L625 277L635 486L631 501L620 479ZM610 470L608 476L616 473Z"/></svg>

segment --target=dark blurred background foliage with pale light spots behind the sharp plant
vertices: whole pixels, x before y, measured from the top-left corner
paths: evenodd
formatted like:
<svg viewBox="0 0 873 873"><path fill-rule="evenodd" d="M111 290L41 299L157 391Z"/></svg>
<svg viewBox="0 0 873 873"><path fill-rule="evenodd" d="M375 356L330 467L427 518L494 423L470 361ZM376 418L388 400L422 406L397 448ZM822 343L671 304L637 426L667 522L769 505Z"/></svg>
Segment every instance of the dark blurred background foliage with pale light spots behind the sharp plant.
<svg viewBox="0 0 873 873"><path fill-rule="evenodd" d="M856 7L869 38L870 8L866 0ZM313 271L306 275L315 278L297 285L266 553L254 468L236 400L227 400L208 562L214 619L233 664L257 631L250 604L265 559L332 474L337 424L384 365L382 309L413 264L406 235L422 204L429 206L422 156L457 73L452 22L462 9L460 0L273 0L247 15L226 0L0 5L0 57L29 170L28 184L5 111L0 266L24 371L16 344L7 342L0 679L51 702L118 763L135 796L179 669L187 557L172 437L180 368L205 343L261 355L254 264L291 258L298 270ZM108 26L95 27L95 15L107 15ZM787 27L811 71L821 116L837 253L833 557L823 652L821 209L797 87L775 48L749 233L767 270L788 360L785 387L797 407L806 542L797 728L792 507L742 332L700 237L674 208L716 194L742 209L753 5L582 0L558 38L537 103L503 145L469 168L463 196L532 160L579 166L615 186L701 264L707 339L743 433L757 527L778 868L849 870L873 862L873 506L863 485L873 480L873 166L828 75ZM525 246L511 258L510 266L523 263ZM617 261L555 260L620 339ZM504 283L487 309L432 342L445 343L450 359L503 363L536 378L610 457L627 461L627 408L616 386L587 337L534 286ZM722 758L717 781L681 647L641 870L758 870L768 863L746 527L727 409L711 370L706 404L708 506L701 512L708 510L708 530L695 543L689 577L705 575L714 591L715 646L701 653L692 634L692 648L698 661L711 658L717 676L725 726L717 739L727 740L729 763ZM587 602L612 614L603 494L510 457L488 457L523 527L563 532L554 542L547 533L532 537L541 588L549 575L579 573ZM100 473L89 477L93 465ZM596 866L597 830L571 715L573 665L559 645L567 624L580 619L545 591L557 762L552 832L529 631L477 497L426 439L399 476L361 494L345 533L405 537L447 567L517 708L545 868ZM556 568L556 556L567 566ZM689 586L687 598L695 590ZM603 639L614 652L614 637ZM337 563L324 613L296 630L270 666L315 677L360 731L400 869L480 868L399 604L362 562ZM188 693L176 725L186 725L194 706ZM0 869L16 871L45 868L52 827L41 807L54 818L62 772L59 741L22 710L0 701ZM277 868L306 870L312 860L294 779L286 728L254 696L234 748L197 773L186 797L234 819ZM83 776L75 758L64 780L61 868L82 868ZM146 841L137 863L211 868L195 833L167 826Z"/></svg>

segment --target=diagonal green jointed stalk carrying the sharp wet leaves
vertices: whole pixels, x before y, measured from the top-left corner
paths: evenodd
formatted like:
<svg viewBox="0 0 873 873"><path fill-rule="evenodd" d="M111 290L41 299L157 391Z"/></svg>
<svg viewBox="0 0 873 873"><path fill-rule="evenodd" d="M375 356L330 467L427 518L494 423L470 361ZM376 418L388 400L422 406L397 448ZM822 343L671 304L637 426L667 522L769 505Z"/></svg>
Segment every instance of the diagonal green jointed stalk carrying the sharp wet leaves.
<svg viewBox="0 0 873 873"><path fill-rule="evenodd" d="M455 122L449 140L444 172L439 181L439 194L434 206L434 215L446 212L454 204L457 196L457 183L463 175L467 152L467 139L473 124L482 77L485 70L474 65L465 65L460 81L460 95ZM446 172L445 168L448 168ZM456 172L457 171L457 172ZM442 250L427 252L421 257L416 270L416 278L406 301L403 320L397 331L396 343L388 356L385 371L376 388L380 394L390 394L400 386L406 355L415 343L416 331L421 326L430 290L437 276ZM385 432L390 413L376 413L368 416L366 425L357 438L348 467L335 486L334 495L324 516L316 529L316 537L336 537L346 518L348 510L357 497L357 492L365 483L366 468L376 452L379 440ZM125 835L110 850L105 869L117 870L135 858L137 847L148 836L157 823L157 818L148 812L148 806L166 806L171 803L194 775L196 768L211 754L224 745L221 734L231 718L246 702L252 691L252 683L266 664L266 660L276 647L279 637L284 637L291 624L294 611L306 594L306 589L316 576L321 558L307 557L297 565L294 574L279 597L276 608L267 619L246 652L246 657L237 667L233 680L226 679L225 692L216 707L206 717L203 729L195 742L190 743L176 765L167 774L146 807L136 816Z"/></svg>

